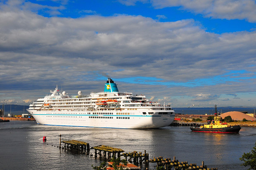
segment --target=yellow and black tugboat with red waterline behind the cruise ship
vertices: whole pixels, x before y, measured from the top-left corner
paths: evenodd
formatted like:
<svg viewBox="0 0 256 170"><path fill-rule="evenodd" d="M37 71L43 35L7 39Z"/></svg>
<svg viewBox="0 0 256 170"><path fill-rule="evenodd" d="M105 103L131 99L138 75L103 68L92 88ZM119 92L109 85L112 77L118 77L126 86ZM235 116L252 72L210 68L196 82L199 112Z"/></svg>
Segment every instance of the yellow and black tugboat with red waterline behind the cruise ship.
<svg viewBox="0 0 256 170"><path fill-rule="evenodd" d="M217 106L215 105L215 116L212 122L209 120L206 125L199 125L190 127L192 132L210 132L210 133L239 133L241 127L239 125L229 125L228 123L221 123L220 114L217 113Z"/></svg>

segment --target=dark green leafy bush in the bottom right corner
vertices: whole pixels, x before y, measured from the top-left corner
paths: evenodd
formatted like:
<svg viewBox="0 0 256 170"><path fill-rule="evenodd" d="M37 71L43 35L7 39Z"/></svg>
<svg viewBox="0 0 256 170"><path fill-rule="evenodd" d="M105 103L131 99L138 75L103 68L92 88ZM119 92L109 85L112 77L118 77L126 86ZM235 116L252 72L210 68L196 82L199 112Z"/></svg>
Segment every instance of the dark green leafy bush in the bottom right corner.
<svg viewBox="0 0 256 170"><path fill-rule="evenodd" d="M240 161L244 161L241 166L249 167L247 170L256 170L256 143L249 153L244 153Z"/></svg>

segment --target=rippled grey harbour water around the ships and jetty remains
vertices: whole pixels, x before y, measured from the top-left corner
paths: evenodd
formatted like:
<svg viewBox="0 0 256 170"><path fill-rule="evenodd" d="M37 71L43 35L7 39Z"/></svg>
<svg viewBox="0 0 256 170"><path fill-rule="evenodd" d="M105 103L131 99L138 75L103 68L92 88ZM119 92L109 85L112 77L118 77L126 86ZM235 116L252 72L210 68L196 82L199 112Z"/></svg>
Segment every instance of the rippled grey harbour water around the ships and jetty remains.
<svg viewBox="0 0 256 170"><path fill-rule="evenodd" d="M256 142L256 128L242 127L239 134L191 132L190 127L164 127L154 130L128 130L38 125L31 121L0 123L0 169L3 170L92 170L101 161L83 154L57 148L59 134L64 139L104 144L125 152L149 153L149 158L176 157L180 162L201 161L218 170L246 170L239 158L250 152ZM43 136L47 142L43 142ZM52 146L53 145L53 146ZM56 146L56 147L55 147ZM90 150L94 155L94 150ZM154 170L155 163L149 164ZM145 169L144 165L142 170Z"/></svg>

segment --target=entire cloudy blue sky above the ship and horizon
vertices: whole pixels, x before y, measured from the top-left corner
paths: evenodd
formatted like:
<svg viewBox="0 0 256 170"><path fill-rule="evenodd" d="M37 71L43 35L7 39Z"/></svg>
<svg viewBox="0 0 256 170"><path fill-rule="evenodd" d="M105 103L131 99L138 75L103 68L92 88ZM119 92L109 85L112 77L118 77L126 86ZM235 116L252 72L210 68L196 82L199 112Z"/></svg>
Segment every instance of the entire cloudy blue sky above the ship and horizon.
<svg viewBox="0 0 256 170"><path fill-rule="evenodd" d="M145 94L172 107L256 106L254 0L0 0L0 103Z"/></svg>

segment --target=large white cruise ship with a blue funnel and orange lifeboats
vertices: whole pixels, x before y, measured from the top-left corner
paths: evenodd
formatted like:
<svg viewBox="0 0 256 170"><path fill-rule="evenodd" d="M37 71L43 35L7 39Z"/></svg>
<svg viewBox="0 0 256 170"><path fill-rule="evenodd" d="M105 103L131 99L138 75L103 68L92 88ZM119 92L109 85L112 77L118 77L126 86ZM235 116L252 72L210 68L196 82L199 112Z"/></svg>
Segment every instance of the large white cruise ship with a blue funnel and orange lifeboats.
<svg viewBox="0 0 256 170"><path fill-rule="evenodd" d="M68 95L58 86L51 94L33 102L27 111L38 124L152 129L170 125L175 117L171 106L151 102L143 94L119 92L116 83L108 78L104 92Z"/></svg>

